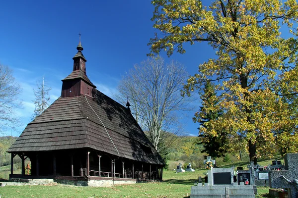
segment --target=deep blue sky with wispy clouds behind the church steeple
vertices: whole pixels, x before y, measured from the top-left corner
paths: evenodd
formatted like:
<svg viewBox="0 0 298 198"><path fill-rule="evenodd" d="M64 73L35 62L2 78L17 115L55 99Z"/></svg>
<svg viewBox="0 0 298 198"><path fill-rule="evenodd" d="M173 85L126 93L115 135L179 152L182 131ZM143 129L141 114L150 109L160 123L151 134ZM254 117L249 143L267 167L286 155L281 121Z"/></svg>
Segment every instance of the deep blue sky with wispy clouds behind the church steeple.
<svg viewBox="0 0 298 198"><path fill-rule="evenodd" d="M0 6L0 63L13 69L22 87L23 109L19 136L33 114L33 88L45 81L52 88L51 103L61 94L61 80L72 72L81 32L87 76L97 89L113 98L121 76L134 64L147 59L152 28L153 5L150 0L13 0ZM181 62L190 75L198 65L214 54L207 44L186 45L186 53L170 58ZM196 103L199 105L199 103ZM192 123L196 109L183 122L184 133L197 135L199 126ZM10 135L10 134L9 134Z"/></svg>

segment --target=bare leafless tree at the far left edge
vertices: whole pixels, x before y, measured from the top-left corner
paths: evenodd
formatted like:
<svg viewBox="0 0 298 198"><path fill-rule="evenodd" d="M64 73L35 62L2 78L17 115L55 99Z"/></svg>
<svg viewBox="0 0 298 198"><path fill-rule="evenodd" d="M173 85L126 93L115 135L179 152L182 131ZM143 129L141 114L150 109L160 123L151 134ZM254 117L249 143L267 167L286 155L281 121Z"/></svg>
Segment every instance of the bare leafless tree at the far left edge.
<svg viewBox="0 0 298 198"><path fill-rule="evenodd" d="M8 131L19 126L16 110L22 107L18 99L21 93L20 85L12 76L8 66L0 64L0 134L7 135Z"/></svg>

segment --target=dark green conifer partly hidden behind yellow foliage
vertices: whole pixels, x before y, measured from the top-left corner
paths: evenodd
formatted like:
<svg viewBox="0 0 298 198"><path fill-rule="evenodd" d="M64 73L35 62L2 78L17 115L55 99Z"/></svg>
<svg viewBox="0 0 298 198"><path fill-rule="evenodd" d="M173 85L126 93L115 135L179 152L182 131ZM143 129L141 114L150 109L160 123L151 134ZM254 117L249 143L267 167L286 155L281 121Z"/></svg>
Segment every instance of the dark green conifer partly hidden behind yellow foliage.
<svg viewBox="0 0 298 198"><path fill-rule="evenodd" d="M203 144L202 153L207 153L212 158L222 157L227 152L228 139L225 130L217 131L216 136L205 133L210 131L207 122L217 120L223 114L223 110L219 106L220 99L215 92L215 86L210 81L205 83L203 93L201 95L202 106L200 111L195 113L194 122L199 122L199 144Z"/></svg>

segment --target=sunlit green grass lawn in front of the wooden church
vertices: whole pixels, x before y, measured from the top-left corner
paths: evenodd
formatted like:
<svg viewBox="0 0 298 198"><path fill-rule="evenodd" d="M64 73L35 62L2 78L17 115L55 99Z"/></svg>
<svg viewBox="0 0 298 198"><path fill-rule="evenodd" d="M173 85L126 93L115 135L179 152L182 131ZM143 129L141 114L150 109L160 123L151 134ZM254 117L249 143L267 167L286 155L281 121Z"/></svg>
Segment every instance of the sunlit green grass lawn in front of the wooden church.
<svg viewBox="0 0 298 198"><path fill-rule="evenodd" d="M163 172L163 182L119 185L109 188L53 186L0 187L1 198L188 198L190 189L205 170L175 173ZM258 188L257 198L268 198L268 187Z"/></svg>

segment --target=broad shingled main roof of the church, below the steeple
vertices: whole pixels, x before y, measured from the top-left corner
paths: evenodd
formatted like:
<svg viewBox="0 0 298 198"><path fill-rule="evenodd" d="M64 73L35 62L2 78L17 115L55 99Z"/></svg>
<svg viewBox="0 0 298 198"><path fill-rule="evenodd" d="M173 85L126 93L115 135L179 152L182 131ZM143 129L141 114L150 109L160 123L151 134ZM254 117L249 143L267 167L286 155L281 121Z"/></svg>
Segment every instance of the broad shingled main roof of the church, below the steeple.
<svg viewBox="0 0 298 198"><path fill-rule="evenodd" d="M7 152L93 148L118 156L112 142L120 157L164 164L130 111L97 90L95 98L57 99L28 124Z"/></svg>

